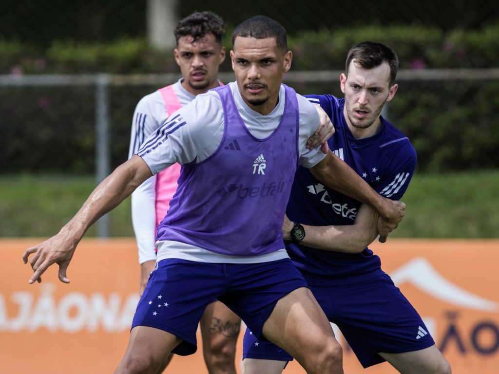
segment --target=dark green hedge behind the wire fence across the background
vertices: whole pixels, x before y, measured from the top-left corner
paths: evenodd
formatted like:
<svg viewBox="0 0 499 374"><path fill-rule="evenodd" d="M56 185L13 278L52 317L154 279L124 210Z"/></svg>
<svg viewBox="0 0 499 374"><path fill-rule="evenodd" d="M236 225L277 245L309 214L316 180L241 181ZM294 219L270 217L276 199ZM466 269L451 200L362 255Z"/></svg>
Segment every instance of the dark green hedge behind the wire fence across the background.
<svg viewBox="0 0 499 374"><path fill-rule="evenodd" d="M401 67L494 68L499 25L446 34L416 26L305 32L289 39L293 70L340 69L349 47L380 40L397 50ZM228 38L227 38L228 39ZM0 41L3 73L152 73L178 71L171 51L143 40L112 44L54 42L46 51ZM230 70L229 59L224 70ZM293 82L302 94L341 96L338 83ZM111 87L112 167L126 160L133 110L156 86ZM93 87L0 86L0 173L94 172ZM412 141L422 172L499 169L499 80L407 81L387 105L387 118Z"/></svg>

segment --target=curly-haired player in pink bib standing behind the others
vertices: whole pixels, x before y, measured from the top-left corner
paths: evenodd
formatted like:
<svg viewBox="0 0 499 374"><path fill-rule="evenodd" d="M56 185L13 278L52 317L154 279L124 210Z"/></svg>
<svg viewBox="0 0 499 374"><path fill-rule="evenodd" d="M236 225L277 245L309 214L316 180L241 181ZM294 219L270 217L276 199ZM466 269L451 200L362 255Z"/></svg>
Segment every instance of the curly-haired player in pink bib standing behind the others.
<svg viewBox="0 0 499 374"><path fill-rule="evenodd" d="M218 87L219 66L225 60L223 19L211 11L194 12L179 21L174 34L175 61L182 78L143 97L135 109L129 158L148 135L157 131L169 115L190 103L196 95ZM180 165L149 178L132 193L132 222L139 249L140 294L156 264L155 231L170 206L177 188ZM236 374L236 342L241 319L220 301L206 308L201 318L203 355L208 372ZM171 360L166 359L165 366ZM162 372L161 368L159 372Z"/></svg>

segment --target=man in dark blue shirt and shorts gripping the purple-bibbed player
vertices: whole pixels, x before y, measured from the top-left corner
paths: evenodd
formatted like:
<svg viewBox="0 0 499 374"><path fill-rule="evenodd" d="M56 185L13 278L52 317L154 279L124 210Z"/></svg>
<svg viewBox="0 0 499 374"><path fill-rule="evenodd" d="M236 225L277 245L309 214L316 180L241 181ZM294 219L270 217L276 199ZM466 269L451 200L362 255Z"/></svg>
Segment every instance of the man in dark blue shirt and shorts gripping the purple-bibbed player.
<svg viewBox="0 0 499 374"><path fill-rule="evenodd" d="M398 85L396 53L378 42L353 46L341 74L344 99L309 95L335 126L331 150L383 196L399 199L416 167L409 139L381 117ZM286 249L329 321L364 368L388 361L404 374L451 373L421 317L367 245L376 212L299 167L283 224ZM257 344L256 344L257 343ZM246 332L245 374L280 373L291 356Z"/></svg>

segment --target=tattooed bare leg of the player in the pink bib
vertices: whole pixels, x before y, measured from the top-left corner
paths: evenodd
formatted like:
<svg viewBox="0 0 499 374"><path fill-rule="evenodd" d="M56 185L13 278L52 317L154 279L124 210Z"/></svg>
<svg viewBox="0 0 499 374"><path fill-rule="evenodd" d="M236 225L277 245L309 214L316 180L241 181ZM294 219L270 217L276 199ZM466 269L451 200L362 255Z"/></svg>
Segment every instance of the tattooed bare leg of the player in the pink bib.
<svg viewBox="0 0 499 374"><path fill-rule="evenodd" d="M203 355L209 374L236 374L236 343L241 318L220 301L211 303L201 318Z"/></svg>

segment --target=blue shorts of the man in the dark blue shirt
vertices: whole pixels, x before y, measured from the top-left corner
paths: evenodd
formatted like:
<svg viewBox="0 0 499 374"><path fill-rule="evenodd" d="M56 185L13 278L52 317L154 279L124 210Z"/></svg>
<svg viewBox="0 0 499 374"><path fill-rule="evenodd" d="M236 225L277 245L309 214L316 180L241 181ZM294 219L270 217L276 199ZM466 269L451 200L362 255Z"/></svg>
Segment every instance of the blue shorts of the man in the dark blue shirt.
<svg viewBox="0 0 499 374"><path fill-rule="evenodd" d="M435 344L419 314L388 274L368 282L309 288L364 368L385 361L378 352L412 352ZM250 329L243 342L246 358L292 360L276 345L258 340Z"/></svg>

